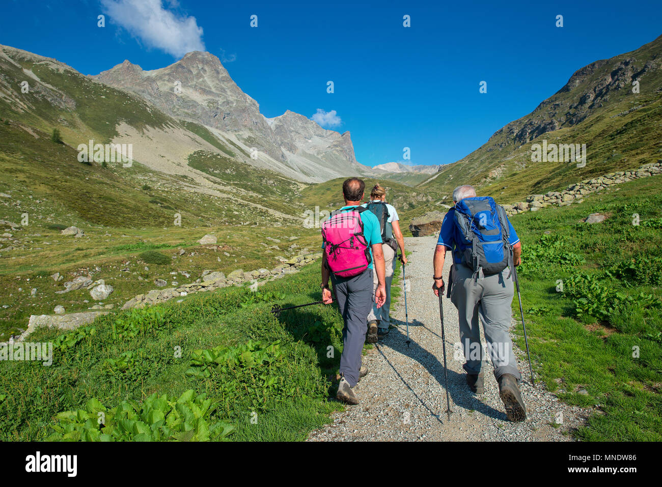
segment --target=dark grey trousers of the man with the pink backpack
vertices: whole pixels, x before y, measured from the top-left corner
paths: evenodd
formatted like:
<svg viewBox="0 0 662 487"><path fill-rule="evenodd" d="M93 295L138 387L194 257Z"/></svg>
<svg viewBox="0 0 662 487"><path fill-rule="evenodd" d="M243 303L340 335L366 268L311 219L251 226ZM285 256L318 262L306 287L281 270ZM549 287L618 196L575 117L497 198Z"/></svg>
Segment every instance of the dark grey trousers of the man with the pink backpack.
<svg viewBox="0 0 662 487"><path fill-rule="evenodd" d="M331 279L340 313L345 322L342 329L340 375L344 375L350 387L354 387L359 381L359 369L361 369L361 353L367 332L365 320L373 303L373 270L365 269L355 277L332 276Z"/></svg>

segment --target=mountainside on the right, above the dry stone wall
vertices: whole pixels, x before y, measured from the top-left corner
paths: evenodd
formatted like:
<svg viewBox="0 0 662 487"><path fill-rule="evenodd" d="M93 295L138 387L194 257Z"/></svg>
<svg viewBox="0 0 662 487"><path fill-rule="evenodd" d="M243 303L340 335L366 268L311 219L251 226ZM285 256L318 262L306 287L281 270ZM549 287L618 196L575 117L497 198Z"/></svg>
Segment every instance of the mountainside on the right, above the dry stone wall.
<svg viewBox="0 0 662 487"><path fill-rule="evenodd" d="M636 72L647 60L659 57L661 50L662 38L658 38L634 52L616 56L583 83L555 93L536 111L513 123L520 127L527 120L546 122L559 118L564 110L573 111L566 107L579 103L586 91L610 79L610 69L618 62L634 58ZM563 189L583 179L656 161L662 157L661 87L662 74L659 69L651 69L641 79L641 93L632 93L630 84L614 89L608 100L591 109L586 120L573 126L566 124L522 144L514 140L514 134L506 126L461 161L444 166L436 179L419 185L418 189L449 194L457 185L469 183L479 185L483 195L509 203L522 201L526 195ZM630 109L635 110L626 113ZM544 139L554 144L587 144L587 165L577 168L574 163L532 162L532 144L542 143Z"/></svg>

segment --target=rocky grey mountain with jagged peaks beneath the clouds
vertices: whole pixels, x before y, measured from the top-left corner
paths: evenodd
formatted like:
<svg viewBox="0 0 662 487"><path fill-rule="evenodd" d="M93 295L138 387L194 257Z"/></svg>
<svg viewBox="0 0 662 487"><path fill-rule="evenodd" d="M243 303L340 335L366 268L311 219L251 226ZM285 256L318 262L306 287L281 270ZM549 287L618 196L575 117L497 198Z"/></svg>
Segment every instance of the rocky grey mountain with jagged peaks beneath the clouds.
<svg viewBox="0 0 662 487"><path fill-rule="evenodd" d="M209 52L189 52L170 66L144 71L124 61L93 79L140 95L169 116L196 122L222 141L234 140L258 157L246 160L300 181L326 181L373 171L357 163L350 132L325 130L292 111L274 118L232 80Z"/></svg>

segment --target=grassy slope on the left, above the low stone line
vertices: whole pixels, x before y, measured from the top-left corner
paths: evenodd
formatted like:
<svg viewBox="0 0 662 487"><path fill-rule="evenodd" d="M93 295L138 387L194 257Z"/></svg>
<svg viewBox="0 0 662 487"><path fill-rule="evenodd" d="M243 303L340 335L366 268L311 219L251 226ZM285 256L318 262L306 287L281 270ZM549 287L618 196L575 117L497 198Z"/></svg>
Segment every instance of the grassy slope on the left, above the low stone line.
<svg viewBox="0 0 662 487"><path fill-rule="evenodd" d="M135 294L154 288L156 278L185 283L195 281L205 269L272 268L279 263L276 257L319 245L318 232L304 229L303 217L301 225L277 226L265 212L183 191L176 181L157 179L138 163L126 169L79 163L72 148L33 131L39 138L13 122L0 121L0 191L12 195L0 199L0 219L20 224L24 213L29 217L21 230L1 229L17 241L1 242L0 247L0 304L9 306L0 316L0 340L26 328L30 314L51 314L57 304L68 312L91 306L83 302L91 300L87 290L55 294L76 274L91 271L97 279L105 279L115 287L105 304L121 306ZM258 191L260 182L269 180L262 173L250 173L250 178L244 181L248 191ZM303 215L303 210L298 211L298 216ZM181 226L174 225L175 212L181 214ZM61 236L59 230L49 228L52 224L78 226L85 236ZM217 236L218 251L195 242L207 233ZM267 236L282 242L276 244ZM289 242L291 236L299 240ZM289 250L292 244L299 248ZM176 255L178 247L192 248L171 266L145 269L138 261L142 249L122 245L165 245L162 251L169 256ZM279 248L267 249L272 245ZM175 271L187 272L191 279L169 274ZM48 277L56 272L64 275L60 283ZM32 288L37 288L35 298L30 296Z"/></svg>

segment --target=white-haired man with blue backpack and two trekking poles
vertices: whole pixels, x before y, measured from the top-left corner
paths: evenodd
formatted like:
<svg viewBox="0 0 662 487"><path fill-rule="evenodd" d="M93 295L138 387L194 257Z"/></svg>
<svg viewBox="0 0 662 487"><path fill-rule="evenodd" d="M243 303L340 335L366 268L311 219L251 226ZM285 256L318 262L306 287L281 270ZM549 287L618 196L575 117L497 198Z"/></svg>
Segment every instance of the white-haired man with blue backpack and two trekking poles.
<svg viewBox="0 0 662 487"><path fill-rule="evenodd" d="M472 392L485 390L480 316L506 416L521 421L526 418L518 388L522 376L508 329L514 296L510 269L520 265L522 244L505 210L491 197L477 197L475 189L465 185L455 188L453 202L455 206L444 216L434 251L434 294L439 296L444 291L442 269L446 251L451 250L450 296L459 315L467 384Z"/></svg>

